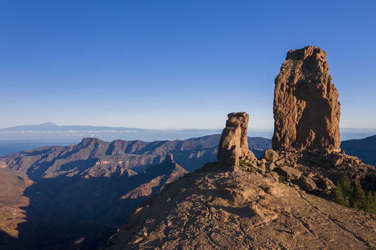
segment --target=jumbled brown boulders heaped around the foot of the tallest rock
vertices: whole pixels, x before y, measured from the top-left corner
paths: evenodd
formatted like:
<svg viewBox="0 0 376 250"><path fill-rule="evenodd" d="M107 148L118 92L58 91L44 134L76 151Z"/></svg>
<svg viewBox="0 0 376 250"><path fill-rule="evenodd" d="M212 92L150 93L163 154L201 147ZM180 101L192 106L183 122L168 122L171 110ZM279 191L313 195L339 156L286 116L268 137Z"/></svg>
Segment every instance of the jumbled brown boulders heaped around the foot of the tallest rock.
<svg viewBox="0 0 376 250"><path fill-rule="evenodd" d="M249 172L286 182L327 200L331 200L334 184L344 175L355 185L360 183L365 190L376 190L375 168L344 151L267 149L258 160L243 157L241 165Z"/></svg>

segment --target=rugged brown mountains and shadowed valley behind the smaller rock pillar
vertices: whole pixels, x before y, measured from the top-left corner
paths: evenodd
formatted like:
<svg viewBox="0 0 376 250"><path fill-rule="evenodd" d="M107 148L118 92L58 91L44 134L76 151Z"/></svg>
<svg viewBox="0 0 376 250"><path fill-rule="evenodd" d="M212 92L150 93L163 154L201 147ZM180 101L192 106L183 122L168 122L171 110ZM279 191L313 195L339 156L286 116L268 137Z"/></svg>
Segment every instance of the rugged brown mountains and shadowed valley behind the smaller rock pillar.
<svg viewBox="0 0 376 250"><path fill-rule="evenodd" d="M155 142L84 138L76 145L2 156L0 227L7 233L0 230L0 248L97 249L166 183L216 161L219 139L220 134ZM271 146L261 137L248 142L258 155Z"/></svg>

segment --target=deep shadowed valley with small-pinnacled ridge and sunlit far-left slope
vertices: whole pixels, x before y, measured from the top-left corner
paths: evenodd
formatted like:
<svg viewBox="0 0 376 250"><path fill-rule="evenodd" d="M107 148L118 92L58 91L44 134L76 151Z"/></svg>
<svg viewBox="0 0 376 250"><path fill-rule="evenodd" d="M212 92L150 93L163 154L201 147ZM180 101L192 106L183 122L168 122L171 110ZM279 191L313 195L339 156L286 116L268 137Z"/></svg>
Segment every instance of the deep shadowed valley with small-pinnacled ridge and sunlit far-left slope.
<svg viewBox="0 0 376 250"><path fill-rule="evenodd" d="M6 250L97 249L147 197L188 173L171 155L146 172L127 170L109 177L59 175L31 181L2 166L0 246Z"/></svg>

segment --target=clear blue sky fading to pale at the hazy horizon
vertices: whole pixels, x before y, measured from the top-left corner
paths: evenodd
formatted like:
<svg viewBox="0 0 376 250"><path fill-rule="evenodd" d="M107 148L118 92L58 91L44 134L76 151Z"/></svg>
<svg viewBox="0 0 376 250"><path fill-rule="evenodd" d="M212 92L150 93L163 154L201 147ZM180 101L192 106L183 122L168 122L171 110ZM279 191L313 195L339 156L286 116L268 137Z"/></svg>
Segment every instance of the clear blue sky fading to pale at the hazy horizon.
<svg viewBox="0 0 376 250"><path fill-rule="evenodd" d="M254 3L252 3L254 2ZM376 1L2 1L0 127L272 128L286 53L327 51L341 127L376 127Z"/></svg>

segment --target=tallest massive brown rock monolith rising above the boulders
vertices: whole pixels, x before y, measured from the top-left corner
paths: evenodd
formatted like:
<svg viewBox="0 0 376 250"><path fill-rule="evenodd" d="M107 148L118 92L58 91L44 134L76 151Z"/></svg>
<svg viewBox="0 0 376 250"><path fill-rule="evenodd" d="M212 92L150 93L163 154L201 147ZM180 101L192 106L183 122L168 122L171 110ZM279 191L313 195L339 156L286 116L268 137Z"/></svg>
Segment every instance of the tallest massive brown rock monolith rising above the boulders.
<svg viewBox="0 0 376 250"><path fill-rule="evenodd" d="M338 151L340 105L326 52L315 46L288 51L275 79L273 149Z"/></svg>

